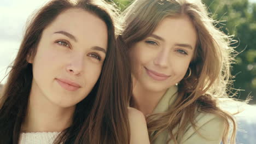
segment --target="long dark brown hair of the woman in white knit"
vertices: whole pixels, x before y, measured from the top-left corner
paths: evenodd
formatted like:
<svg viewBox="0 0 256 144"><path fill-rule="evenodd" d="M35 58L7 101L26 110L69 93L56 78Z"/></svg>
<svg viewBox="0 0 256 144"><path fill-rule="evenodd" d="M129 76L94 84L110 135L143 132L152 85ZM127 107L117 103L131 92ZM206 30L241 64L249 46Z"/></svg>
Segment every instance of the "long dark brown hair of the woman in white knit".
<svg viewBox="0 0 256 144"><path fill-rule="evenodd" d="M95 14L107 25L108 49L102 73L89 95L75 107L70 127L54 143L130 143L127 101L131 95L127 53L117 49L114 27L118 11L102 0L53 0L46 3L26 27L18 55L10 66L0 101L0 143L19 143L21 125L27 113L32 83L32 65L44 29L63 11L83 9Z"/></svg>

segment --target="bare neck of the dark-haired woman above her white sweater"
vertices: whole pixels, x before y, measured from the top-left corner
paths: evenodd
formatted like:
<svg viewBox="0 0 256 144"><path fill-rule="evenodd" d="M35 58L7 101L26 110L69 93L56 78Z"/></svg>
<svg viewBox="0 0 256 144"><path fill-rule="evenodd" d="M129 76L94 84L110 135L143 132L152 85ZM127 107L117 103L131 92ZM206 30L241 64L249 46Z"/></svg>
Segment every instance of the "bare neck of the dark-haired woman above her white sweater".
<svg viewBox="0 0 256 144"><path fill-rule="evenodd" d="M22 132L63 131L72 123L75 106L63 108L31 91Z"/></svg>

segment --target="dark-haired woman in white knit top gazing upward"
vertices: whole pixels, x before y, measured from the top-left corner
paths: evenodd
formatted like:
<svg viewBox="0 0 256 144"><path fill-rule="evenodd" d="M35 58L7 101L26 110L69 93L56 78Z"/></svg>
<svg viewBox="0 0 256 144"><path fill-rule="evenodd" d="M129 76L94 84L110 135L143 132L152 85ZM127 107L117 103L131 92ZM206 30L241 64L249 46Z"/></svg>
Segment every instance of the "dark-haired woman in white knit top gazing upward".
<svg viewBox="0 0 256 144"><path fill-rule="evenodd" d="M143 115L127 108L130 69L114 12L100 0L53 0L38 11L2 92L0 143L141 143L130 137L137 131L147 140Z"/></svg>

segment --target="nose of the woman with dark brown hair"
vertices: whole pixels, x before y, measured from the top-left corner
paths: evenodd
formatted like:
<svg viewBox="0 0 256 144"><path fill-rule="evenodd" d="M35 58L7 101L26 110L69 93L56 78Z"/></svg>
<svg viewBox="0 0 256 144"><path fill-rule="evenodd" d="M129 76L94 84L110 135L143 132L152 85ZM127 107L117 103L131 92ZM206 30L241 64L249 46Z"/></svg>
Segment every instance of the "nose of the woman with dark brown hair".
<svg viewBox="0 0 256 144"><path fill-rule="evenodd" d="M73 56L70 58L71 60L66 66L66 71L73 75L79 75L83 71L84 62L83 62L83 56Z"/></svg>

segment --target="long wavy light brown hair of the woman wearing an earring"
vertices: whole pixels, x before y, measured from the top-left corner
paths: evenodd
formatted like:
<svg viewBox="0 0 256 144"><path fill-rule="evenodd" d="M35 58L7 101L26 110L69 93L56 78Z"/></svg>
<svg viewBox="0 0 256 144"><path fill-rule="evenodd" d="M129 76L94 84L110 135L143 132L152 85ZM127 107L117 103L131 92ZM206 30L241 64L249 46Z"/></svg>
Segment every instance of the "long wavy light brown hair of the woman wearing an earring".
<svg viewBox="0 0 256 144"><path fill-rule="evenodd" d="M188 124L196 130L195 115L191 111L213 113L224 119L223 143L235 143L236 122L231 113L220 109L220 102L229 98L231 64L234 63L234 47L231 36L214 27L217 21L208 16L206 6L200 0L135 0L121 17L124 26L119 36L127 47L132 47L152 34L166 17L189 16L197 32L197 45L187 74L178 83L178 99L167 112L156 113L147 118L150 141L168 130L170 140L183 135ZM184 119L182 117L185 117ZM180 125L177 132L173 129ZM232 127L232 129L231 129ZM231 133L230 133L231 129ZM157 131L152 136L152 133ZM229 137L229 135L231 135Z"/></svg>

